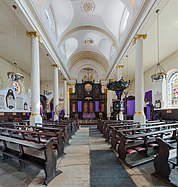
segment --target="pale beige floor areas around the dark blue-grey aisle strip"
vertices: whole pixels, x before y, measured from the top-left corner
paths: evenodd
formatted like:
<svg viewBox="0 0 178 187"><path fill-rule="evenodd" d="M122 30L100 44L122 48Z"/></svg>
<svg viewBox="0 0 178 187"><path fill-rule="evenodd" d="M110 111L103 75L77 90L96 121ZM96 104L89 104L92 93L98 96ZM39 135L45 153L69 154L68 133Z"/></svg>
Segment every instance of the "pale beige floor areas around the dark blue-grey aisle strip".
<svg viewBox="0 0 178 187"><path fill-rule="evenodd" d="M70 140L70 146L65 148L65 155L58 159L57 170L62 173L55 177L49 187L90 187L90 151L109 150L110 145L106 144L102 135L97 133L89 136L88 127L80 127L75 136ZM136 186L138 187L167 187L150 174L152 165L129 169L125 167ZM43 171L31 182L30 187L40 185L44 176ZM98 186L97 186L98 187Z"/></svg>

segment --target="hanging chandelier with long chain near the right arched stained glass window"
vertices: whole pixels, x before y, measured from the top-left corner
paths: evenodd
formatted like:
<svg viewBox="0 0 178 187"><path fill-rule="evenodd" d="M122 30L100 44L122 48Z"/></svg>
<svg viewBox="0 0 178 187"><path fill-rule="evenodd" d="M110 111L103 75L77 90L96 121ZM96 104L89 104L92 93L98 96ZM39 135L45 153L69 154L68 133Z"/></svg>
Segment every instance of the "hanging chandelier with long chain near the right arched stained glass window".
<svg viewBox="0 0 178 187"><path fill-rule="evenodd" d="M151 79L152 82L158 82L158 81L162 81L163 79L166 78L166 72L164 70L164 68L161 66L160 64L160 59L159 59L159 53L160 53L160 49L159 49L159 19L158 19L158 13L159 13L159 9L156 10L156 14L157 14L157 49L158 49L158 63L156 64L156 68L154 73L151 75Z"/></svg>

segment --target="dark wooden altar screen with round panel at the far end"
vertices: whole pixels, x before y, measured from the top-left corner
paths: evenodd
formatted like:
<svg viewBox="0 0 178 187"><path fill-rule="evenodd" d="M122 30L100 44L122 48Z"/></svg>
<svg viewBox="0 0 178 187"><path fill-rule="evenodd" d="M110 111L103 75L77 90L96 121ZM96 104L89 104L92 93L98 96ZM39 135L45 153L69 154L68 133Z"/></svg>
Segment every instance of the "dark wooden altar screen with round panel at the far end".
<svg viewBox="0 0 178 187"><path fill-rule="evenodd" d="M103 117L107 117L107 93L101 92L100 83L92 81L76 83L75 90L75 93L70 93L70 117L74 117L77 113L79 118L82 118L83 114L95 114L95 117L98 118L99 112L103 113ZM80 107L82 112L78 111L78 101L82 103ZM97 110L97 112L95 112L96 101L99 103L99 111Z"/></svg>

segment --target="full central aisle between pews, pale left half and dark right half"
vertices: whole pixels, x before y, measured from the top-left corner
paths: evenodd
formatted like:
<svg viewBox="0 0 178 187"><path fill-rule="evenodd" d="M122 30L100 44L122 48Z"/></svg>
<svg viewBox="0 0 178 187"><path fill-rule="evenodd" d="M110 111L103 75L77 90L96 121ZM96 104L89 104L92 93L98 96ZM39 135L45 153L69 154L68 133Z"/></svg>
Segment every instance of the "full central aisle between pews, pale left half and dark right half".
<svg viewBox="0 0 178 187"><path fill-rule="evenodd" d="M135 187L96 126L80 127L65 153L57 163L61 174L49 187ZM32 181L31 187L39 186L40 176Z"/></svg>

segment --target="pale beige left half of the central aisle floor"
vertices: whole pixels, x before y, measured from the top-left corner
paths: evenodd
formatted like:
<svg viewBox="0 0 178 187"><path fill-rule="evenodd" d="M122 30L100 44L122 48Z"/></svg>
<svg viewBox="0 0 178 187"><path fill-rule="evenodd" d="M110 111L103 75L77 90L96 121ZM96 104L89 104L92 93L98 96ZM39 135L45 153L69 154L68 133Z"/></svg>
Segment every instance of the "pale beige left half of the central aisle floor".
<svg viewBox="0 0 178 187"><path fill-rule="evenodd" d="M57 170L62 173L48 185L49 187L89 187L89 128L81 128L72 136L65 148L63 158L58 159Z"/></svg>

